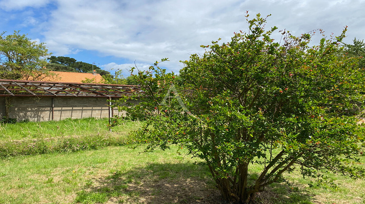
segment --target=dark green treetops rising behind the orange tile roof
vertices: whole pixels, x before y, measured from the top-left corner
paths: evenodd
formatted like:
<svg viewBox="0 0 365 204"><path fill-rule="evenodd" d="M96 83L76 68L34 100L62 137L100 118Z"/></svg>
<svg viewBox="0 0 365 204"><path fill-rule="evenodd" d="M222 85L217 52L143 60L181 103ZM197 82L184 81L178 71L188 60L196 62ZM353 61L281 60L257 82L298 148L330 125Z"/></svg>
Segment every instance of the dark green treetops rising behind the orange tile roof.
<svg viewBox="0 0 365 204"><path fill-rule="evenodd" d="M51 56L48 58L49 62L47 68L52 71L70 71L70 72L83 72L83 73L92 73L93 70L100 75L110 74L109 71L103 70L98 66L93 64L89 64L86 62L76 61L71 57L64 56Z"/></svg>

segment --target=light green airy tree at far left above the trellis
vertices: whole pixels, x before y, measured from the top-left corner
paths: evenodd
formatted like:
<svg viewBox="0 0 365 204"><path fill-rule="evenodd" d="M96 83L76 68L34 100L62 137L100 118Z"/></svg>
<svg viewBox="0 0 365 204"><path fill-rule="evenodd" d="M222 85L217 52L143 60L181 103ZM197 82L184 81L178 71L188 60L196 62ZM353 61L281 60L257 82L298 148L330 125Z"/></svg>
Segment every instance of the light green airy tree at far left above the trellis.
<svg viewBox="0 0 365 204"><path fill-rule="evenodd" d="M0 34L0 78L41 80L50 74L42 69L49 55L44 43L37 43L25 34L14 31Z"/></svg>

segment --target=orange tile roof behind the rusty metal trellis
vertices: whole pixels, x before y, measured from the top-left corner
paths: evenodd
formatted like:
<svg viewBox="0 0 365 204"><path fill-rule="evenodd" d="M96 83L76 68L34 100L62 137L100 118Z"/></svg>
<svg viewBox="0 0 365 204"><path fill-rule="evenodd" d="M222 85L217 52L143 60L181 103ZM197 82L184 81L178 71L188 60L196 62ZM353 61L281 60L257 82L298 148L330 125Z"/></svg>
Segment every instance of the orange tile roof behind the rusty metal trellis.
<svg viewBox="0 0 365 204"><path fill-rule="evenodd" d="M45 78L42 81L53 81L53 82L71 82L71 83L82 83L85 79L94 79L95 82L92 83L100 83L101 75L100 74L92 74L92 73L81 73L81 72L66 72L66 71L50 71L51 73L55 73L54 77Z"/></svg>

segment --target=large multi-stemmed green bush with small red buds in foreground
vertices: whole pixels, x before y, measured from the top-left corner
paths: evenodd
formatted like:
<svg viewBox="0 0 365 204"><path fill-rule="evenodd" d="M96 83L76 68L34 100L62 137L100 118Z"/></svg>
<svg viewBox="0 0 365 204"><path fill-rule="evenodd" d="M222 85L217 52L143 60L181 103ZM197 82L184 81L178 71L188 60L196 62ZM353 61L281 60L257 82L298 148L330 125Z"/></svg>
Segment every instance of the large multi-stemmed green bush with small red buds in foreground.
<svg viewBox="0 0 365 204"><path fill-rule="evenodd" d="M213 41L202 46L202 56L184 61L180 85L173 86L176 76L158 62L138 71L144 92L115 103L127 112L125 120L145 121L134 133L139 143L148 143L146 151L187 148L234 203L252 202L295 169L303 176L364 177L365 169L351 164L364 151L364 126L355 115L364 102L365 69L337 54L347 28L310 47L311 34L280 31L278 43L271 37L276 27L264 29L266 18L247 15L247 22L247 33ZM130 98L141 102L124 106ZM250 182L256 163L263 168Z"/></svg>

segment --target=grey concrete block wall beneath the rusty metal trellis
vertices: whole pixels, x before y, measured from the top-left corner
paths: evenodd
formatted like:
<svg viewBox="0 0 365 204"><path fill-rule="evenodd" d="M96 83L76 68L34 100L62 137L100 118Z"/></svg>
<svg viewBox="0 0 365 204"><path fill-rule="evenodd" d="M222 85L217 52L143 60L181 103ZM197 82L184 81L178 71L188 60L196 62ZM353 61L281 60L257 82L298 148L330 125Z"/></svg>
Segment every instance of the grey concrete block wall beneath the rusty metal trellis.
<svg viewBox="0 0 365 204"><path fill-rule="evenodd" d="M5 114L5 97L0 97L0 114ZM52 100L54 104L54 120L67 118L108 118L109 107L107 98L99 97L9 97L9 118L18 121L27 119L30 121L52 120ZM3 101L3 102L2 102ZM113 115L122 115L114 108Z"/></svg>

